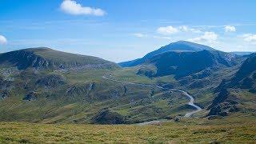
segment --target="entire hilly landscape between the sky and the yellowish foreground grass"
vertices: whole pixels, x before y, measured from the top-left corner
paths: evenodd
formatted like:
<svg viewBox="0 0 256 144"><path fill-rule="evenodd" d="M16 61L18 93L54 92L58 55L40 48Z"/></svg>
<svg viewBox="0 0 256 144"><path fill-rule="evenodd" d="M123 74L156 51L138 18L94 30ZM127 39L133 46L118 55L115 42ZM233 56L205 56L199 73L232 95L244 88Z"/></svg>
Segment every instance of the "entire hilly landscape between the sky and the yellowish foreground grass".
<svg viewBox="0 0 256 144"><path fill-rule="evenodd" d="M254 114L256 55L194 42L162 46L130 62L46 47L0 54L0 120L121 124ZM171 90L175 89L175 90Z"/></svg>

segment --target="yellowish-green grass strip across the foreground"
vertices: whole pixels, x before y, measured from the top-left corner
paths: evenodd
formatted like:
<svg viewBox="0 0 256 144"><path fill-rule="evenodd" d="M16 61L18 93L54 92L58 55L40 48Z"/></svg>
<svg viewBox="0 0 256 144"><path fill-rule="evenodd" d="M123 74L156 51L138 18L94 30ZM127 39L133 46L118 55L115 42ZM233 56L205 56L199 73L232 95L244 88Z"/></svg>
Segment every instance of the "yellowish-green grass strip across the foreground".
<svg viewBox="0 0 256 144"><path fill-rule="evenodd" d="M182 119L154 126L0 122L0 142L226 142L256 141L255 116L222 120Z"/></svg>

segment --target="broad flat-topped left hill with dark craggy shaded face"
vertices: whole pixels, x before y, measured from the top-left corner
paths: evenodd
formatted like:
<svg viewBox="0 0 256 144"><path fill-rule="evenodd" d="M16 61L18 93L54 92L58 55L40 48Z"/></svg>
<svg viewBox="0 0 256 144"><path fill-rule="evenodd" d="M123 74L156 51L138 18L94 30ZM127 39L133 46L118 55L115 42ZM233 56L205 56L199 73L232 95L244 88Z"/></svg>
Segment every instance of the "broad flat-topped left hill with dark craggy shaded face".
<svg viewBox="0 0 256 144"><path fill-rule="evenodd" d="M60 70L81 66L118 67L114 62L92 56L70 54L46 47L15 50L0 54L0 65L17 66L18 70L33 67L38 70Z"/></svg>

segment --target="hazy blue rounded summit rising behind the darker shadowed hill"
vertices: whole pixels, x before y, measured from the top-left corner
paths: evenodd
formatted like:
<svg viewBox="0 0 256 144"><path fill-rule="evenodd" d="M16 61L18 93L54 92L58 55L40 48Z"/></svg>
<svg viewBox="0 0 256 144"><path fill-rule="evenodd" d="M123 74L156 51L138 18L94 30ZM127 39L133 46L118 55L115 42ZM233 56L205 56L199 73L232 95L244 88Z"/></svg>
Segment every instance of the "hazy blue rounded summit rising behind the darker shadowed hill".
<svg viewBox="0 0 256 144"><path fill-rule="evenodd" d="M168 51L195 52L195 51L201 51L201 50L214 51L214 48L211 48L210 46L200 45L200 44L194 43L194 42L178 41L178 42L170 43L169 45L166 45L166 46L162 46L160 49L154 50L154 51L150 52L149 54L146 54L143 58L138 58L138 59L135 59L135 60L129 61L129 62L121 62L121 63L119 63L119 65L122 67L137 66L139 64L142 64L143 62L146 62L146 60L148 60L158 54L162 54L162 53L165 53Z"/></svg>

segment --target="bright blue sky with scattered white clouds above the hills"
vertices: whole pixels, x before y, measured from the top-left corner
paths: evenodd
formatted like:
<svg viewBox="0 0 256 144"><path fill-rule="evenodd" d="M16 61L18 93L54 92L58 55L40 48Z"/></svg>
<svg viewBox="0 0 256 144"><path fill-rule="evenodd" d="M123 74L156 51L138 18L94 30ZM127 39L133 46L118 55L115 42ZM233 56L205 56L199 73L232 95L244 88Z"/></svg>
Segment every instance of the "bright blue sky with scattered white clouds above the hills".
<svg viewBox="0 0 256 144"><path fill-rule="evenodd" d="M256 51L255 0L0 0L0 53L46 46L124 62L170 42Z"/></svg>

